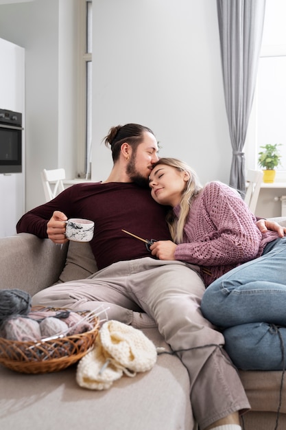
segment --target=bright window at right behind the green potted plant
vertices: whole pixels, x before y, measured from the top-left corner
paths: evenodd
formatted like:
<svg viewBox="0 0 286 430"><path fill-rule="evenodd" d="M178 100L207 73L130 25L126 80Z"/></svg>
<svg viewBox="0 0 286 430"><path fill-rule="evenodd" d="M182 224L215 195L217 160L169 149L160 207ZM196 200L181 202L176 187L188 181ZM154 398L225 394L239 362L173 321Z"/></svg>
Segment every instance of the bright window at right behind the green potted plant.
<svg viewBox="0 0 286 430"><path fill-rule="evenodd" d="M267 1L257 87L246 139L247 168L258 168L260 146L282 144L282 166L286 170L286 14L285 0Z"/></svg>

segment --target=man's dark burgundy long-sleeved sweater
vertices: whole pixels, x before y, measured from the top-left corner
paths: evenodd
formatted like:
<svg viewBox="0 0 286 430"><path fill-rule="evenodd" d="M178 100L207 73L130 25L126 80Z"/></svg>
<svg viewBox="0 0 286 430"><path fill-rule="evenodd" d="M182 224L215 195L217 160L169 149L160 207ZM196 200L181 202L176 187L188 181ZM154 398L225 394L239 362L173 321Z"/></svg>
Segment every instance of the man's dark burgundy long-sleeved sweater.
<svg viewBox="0 0 286 430"><path fill-rule="evenodd" d="M47 238L47 222L53 211L67 218L87 218L95 222L91 249L99 269L121 260L150 257L145 243L123 233L126 229L144 239L168 240L165 206L158 205L149 188L134 183L79 183L55 199L23 215L17 232Z"/></svg>

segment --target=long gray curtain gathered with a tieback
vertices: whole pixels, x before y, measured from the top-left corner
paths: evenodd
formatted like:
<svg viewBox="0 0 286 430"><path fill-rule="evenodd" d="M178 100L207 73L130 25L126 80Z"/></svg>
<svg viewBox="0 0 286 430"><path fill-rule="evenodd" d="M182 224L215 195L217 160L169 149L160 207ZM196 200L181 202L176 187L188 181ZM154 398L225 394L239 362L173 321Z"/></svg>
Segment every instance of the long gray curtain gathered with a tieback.
<svg viewBox="0 0 286 430"><path fill-rule="evenodd" d="M243 146L252 107L266 0L217 0L224 95L233 160L230 186L246 190Z"/></svg>

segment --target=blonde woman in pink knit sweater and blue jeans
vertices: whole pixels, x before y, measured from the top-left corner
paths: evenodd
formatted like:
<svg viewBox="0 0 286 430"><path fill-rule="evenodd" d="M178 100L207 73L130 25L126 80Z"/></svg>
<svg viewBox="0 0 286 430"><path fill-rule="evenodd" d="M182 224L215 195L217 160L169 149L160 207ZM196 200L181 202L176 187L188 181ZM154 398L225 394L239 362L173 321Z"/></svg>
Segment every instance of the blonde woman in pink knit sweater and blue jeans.
<svg viewBox="0 0 286 430"><path fill-rule="evenodd" d="M228 328L226 350L238 367L283 368L286 333L274 337L273 325L286 326L286 238L262 234L235 190L219 182L202 188L195 172L177 159L154 165L150 188L157 203L172 207L167 222L174 240L155 242L152 255L200 265L208 286L202 312ZM271 348L265 351L265 344Z"/></svg>

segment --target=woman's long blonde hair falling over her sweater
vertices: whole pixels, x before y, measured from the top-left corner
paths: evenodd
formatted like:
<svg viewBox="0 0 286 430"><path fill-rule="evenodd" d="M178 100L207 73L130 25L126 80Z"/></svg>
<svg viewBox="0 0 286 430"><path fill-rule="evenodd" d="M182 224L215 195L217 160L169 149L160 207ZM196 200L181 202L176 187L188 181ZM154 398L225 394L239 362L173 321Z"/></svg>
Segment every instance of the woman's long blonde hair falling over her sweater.
<svg viewBox="0 0 286 430"><path fill-rule="evenodd" d="M179 172L187 172L189 174L189 179L186 183L186 187L182 192L182 199L180 201L180 215L177 218L173 212L170 210L166 216L167 223L169 225L169 230L171 237L176 243L181 243L184 234L184 225L187 221L187 216L189 214L191 201L195 196L198 195L200 190L202 190L202 185L198 179L198 175L195 171L190 168L184 161L180 161L176 158L160 158L153 167L158 164L163 164L165 166L171 166Z"/></svg>

